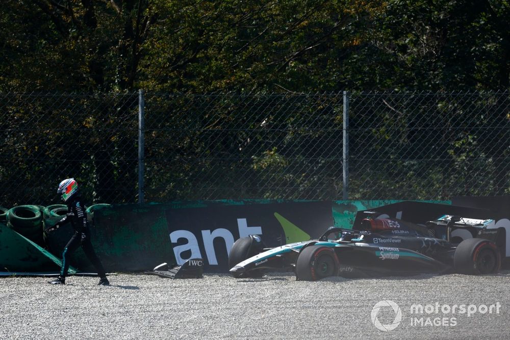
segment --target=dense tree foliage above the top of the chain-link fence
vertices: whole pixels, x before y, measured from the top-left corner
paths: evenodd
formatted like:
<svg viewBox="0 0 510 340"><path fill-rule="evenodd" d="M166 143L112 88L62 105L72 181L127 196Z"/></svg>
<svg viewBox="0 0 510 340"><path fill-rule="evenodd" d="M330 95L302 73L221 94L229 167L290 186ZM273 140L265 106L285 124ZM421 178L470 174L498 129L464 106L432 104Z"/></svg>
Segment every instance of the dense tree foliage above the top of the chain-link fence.
<svg viewBox="0 0 510 340"><path fill-rule="evenodd" d="M506 1L6 0L6 91L506 89Z"/></svg>

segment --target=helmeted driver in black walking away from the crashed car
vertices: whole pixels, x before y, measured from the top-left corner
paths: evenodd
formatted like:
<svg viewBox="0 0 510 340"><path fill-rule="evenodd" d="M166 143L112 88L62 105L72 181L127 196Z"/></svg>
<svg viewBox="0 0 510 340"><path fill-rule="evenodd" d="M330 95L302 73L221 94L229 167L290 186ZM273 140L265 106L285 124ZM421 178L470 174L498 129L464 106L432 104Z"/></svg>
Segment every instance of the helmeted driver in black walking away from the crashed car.
<svg viewBox="0 0 510 340"><path fill-rule="evenodd" d="M62 220L55 224L55 226L46 229L46 232L55 231L65 223L71 222L74 233L62 253L62 269L60 271L60 276L53 281L49 281L49 283L65 284L65 277L69 269L70 255L81 245L85 255L87 255L87 258L97 271L97 275L100 278L99 285L110 285L110 282L106 278L105 269L103 265L101 265L101 261L95 254L92 243L90 242L87 212L80 198L78 182L75 181L74 178L64 179L60 182L57 193L62 194L62 200L67 204L67 214Z"/></svg>

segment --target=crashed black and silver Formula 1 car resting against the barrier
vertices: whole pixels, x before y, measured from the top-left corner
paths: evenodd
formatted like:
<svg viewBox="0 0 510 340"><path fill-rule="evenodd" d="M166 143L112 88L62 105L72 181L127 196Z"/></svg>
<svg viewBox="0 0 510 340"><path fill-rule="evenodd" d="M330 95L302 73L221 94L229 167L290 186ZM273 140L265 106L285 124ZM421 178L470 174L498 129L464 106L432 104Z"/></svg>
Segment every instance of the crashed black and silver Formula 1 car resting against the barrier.
<svg viewBox="0 0 510 340"><path fill-rule="evenodd" d="M294 271L297 280L328 276L381 277L422 273L489 274L499 271L502 251L491 220L443 216L425 225L391 218L365 218L362 230L331 227L317 240L264 248L259 236L237 240L229 254L236 278L266 271ZM455 243L453 229L476 238Z"/></svg>

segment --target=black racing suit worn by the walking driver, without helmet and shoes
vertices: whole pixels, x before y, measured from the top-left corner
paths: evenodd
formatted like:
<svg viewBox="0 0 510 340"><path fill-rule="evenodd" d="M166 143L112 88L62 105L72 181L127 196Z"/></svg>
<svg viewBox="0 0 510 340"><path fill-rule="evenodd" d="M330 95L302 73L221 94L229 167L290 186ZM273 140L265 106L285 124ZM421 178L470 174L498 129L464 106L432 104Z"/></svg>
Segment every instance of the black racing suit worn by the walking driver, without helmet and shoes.
<svg viewBox="0 0 510 340"><path fill-rule="evenodd" d="M79 196L71 197L67 201L67 214L51 229L55 230L61 227L63 224L71 222L74 233L64 248L62 253L62 269L60 276L65 278L67 270L69 269L69 257L73 251L78 249L81 245L85 255L90 260L92 265L97 271L97 275L100 278L106 277L105 269L101 265L101 261L94 252L92 243L90 242L90 229L87 225L87 212Z"/></svg>

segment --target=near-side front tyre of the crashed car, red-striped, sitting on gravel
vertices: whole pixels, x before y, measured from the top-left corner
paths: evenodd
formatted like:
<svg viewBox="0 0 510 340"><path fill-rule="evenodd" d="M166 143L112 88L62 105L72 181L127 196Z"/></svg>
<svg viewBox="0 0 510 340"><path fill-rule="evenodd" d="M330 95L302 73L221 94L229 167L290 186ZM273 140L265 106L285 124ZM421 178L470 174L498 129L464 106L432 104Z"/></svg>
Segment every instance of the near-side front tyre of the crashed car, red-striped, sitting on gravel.
<svg viewBox="0 0 510 340"><path fill-rule="evenodd" d="M316 281L338 275L338 258L329 247L308 246L296 260L296 278L300 281Z"/></svg>

